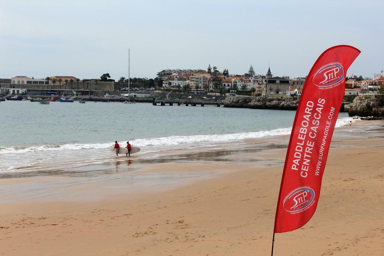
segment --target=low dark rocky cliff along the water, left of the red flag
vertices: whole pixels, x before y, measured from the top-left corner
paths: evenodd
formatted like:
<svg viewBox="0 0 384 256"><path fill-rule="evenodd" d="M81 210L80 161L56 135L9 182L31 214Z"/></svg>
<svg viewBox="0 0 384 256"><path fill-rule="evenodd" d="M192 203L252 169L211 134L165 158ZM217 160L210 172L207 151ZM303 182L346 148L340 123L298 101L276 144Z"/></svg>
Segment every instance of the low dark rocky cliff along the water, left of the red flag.
<svg viewBox="0 0 384 256"><path fill-rule="evenodd" d="M227 97L224 107L227 108L257 108L275 110L296 110L299 100L295 98L258 97Z"/></svg>

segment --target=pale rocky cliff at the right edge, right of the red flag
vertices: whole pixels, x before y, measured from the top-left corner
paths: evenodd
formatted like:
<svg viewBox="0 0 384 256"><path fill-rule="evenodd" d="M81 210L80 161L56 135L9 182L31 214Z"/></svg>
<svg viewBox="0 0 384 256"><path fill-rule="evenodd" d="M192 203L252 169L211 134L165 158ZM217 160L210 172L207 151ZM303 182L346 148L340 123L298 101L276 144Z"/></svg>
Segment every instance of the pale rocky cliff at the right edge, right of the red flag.
<svg viewBox="0 0 384 256"><path fill-rule="evenodd" d="M349 116L384 116L384 95L361 95L345 105Z"/></svg>

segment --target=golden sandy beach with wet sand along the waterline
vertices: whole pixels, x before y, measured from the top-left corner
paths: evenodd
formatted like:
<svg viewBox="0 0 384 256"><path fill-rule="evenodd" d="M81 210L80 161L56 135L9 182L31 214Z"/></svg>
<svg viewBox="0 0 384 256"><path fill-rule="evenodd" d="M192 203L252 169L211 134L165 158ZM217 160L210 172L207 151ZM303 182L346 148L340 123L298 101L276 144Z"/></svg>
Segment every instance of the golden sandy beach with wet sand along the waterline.
<svg viewBox="0 0 384 256"><path fill-rule="evenodd" d="M313 218L274 255L384 255L384 122L337 128ZM288 136L3 175L4 255L270 255Z"/></svg>

